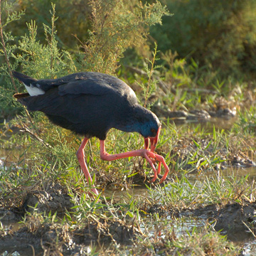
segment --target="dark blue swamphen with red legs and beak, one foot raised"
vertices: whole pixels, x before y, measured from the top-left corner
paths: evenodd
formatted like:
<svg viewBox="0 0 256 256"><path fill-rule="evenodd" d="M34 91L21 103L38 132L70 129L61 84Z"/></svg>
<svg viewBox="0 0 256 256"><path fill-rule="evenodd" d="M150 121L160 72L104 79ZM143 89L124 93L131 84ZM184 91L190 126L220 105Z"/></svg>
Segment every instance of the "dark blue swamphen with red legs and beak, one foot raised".
<svg viewBox="0 0 256 256"><path fill-rule="evenodd" d="M16 71L13 72L28 90L14 97L29 111L41 111L54 124L85 136L77 156L87 182L92 178L85 164L84 148L88 139L100 139L100 156L112 161L129 156L144 156L154 170L154 182L164 165L166 179L169 167L164 157L154 153L159 139L161 124L154 113L137 102L134 91L125 82L111 75L95 72L75 73L58 79L36 80ZM107 154L107 132L116 128L124 132L139 132L144 137L144 149L121 154ZM149 150L149 141L151 149ZM154 162L159 161L156 170ZM96 188L92 192L98 194Z"/></svg>

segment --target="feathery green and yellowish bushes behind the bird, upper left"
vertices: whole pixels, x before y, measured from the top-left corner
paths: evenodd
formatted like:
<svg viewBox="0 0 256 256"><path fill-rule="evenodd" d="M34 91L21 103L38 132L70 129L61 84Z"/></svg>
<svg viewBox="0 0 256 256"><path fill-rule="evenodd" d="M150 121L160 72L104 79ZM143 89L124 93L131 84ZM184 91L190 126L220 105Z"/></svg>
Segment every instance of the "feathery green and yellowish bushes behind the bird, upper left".
<svg viewBox="0 0 256 256"><path fill-rule="evenodd" d="M56 2L58 2L58 8L63 6L62 1ZM87 31L86 41L77 36L77 43L81 46L79 50L77 48L68 51L60 47L61 43L56 31L56 23L59 20L57 21L56 18L55 4L51 6L50 22L38 25L41 26L41 31L43 29L43 41L38 39L38 26L35 21L27 23L28 33L20 36L18 40L18 36L14 36L16 30L13 31L12 28L21 21L24 14L24 11L17 11L20 3L29 3L29 1L17 1L16 4L10 4L8 1L1 3L0 27L3 36L0 44L0 109L6 112L10 111L9 108L6 109L6 102L11 103L12 94L18 90L11 77L11 70L16 70L18 65L22 67L24 73L34 78L56 78L79 71L114 74L124 50L142 43L146 39L148 27L161 23L161 17L168 14L166 7L161 6L159 1L151 5L118 0L88 1L89 5L87 2L79 2L83 9L87 7L91 10L90 26L88 26L90 29ZM48 1L36 1L32 9L42 5L45 9L47 4L49 4ZM65 22L60 21L62 24ZM69 25L73 26L72 23ZM21 27L21 31L24 31L24 28ZM61 30L60 33L65 33L65 30ZM68 33L70 33L69 29ZM39 38L42 38L42 34ZM10 106L9 103L8 106Z"/></svg>

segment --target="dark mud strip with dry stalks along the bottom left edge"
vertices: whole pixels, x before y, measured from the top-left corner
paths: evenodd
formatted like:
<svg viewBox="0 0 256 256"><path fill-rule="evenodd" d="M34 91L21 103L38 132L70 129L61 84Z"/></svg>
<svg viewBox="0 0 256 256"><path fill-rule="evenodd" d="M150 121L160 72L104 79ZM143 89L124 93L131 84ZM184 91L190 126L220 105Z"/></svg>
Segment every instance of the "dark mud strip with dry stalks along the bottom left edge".
<svg viewBox="0 0 256 256"><path fill-rule="evenodd" d="M0 253L11 247L14 249L15 245L17 251L28 251L33 247L36 255L86 255L87 246L92 243L127 245L139 234L138 228L122 220L96 218L93 215L84 228L75 230L68 228L68 225L41 223L32 217L26 227L14 233L11 230L0 233Z"/></svg>

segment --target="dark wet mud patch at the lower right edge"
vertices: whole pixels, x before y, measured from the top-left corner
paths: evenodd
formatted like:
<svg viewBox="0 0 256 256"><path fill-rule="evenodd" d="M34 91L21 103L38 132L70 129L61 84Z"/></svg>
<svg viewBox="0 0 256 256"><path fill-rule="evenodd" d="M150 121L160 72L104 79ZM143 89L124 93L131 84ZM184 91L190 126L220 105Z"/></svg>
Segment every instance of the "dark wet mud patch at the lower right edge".
<svg viewBox="0 0 256 256"><path fill-rule="evenodd" d="M181 218L196 217L205 220L215 231L227 235L233 242L242 242L254 238L256 232L256 202L244 201L228 203L225 206L213 204L196 209L177 210L161 206L150 206L148 212L158 213L161 217Z"/></svg>

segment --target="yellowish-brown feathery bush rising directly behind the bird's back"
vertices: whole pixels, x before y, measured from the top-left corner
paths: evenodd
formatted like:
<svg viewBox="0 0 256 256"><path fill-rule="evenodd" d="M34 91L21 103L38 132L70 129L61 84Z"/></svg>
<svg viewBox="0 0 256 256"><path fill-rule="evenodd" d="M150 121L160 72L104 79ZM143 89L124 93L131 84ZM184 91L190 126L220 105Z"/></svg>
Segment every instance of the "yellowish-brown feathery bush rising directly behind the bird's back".
<svg viewBox="0 0 256 256"><path fill-rule="evenodd" d="M118 0L90 1L92 29L89 39L82 43L81 69L113 74L124 50L139 46L146 40L145 27L161 23L163 15L169 15L159 1L154 4L124 3ZM128 11L127 11L128 10Z"/></svg>

